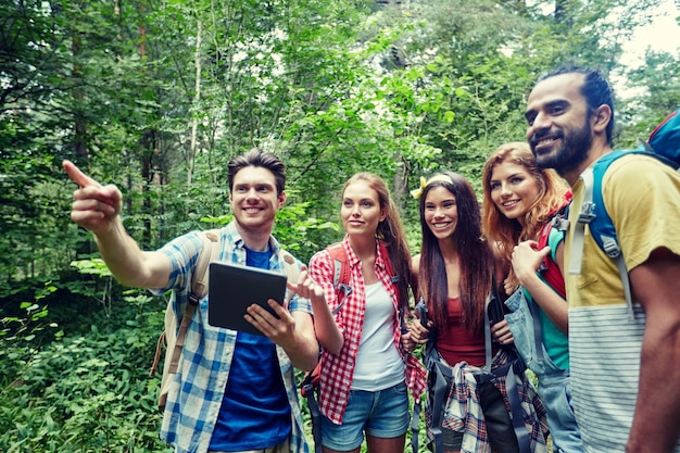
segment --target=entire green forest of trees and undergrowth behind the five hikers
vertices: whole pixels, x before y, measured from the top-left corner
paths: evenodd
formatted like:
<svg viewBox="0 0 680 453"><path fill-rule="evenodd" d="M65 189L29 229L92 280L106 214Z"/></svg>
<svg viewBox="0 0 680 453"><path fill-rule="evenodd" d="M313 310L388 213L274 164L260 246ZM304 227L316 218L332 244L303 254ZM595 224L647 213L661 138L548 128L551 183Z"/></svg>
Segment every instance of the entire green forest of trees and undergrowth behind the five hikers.
<svg viewBox="0 0 680 453"><path fill-rule="evenodd" d="M540 73L626 80L617 148L680 105L677 52L621 63L658 5L1 0L0 451L168 451L148 374L166 300L112 279L70 221L63 159L116 184L125 226L155 249L228 222L226 162L272 150L288 165L275 235L303 261L342 237L340 189L370 171L417 252L408 190L442 168L479 190L486 156L525 140Z"/></svg>

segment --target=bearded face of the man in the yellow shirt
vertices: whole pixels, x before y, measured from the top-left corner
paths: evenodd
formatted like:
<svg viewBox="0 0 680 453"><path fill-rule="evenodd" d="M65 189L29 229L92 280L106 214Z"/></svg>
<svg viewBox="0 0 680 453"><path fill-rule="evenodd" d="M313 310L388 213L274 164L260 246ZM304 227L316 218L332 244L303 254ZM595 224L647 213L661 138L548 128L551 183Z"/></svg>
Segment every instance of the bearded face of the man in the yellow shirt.
<svg viewBox="0 0 680 453"><path fill-rule="evenodd" d="M542 168L566 175L588 160L593 131L582 85L582 74L561 74L538 83L529 95L527 140Z"/></svg>

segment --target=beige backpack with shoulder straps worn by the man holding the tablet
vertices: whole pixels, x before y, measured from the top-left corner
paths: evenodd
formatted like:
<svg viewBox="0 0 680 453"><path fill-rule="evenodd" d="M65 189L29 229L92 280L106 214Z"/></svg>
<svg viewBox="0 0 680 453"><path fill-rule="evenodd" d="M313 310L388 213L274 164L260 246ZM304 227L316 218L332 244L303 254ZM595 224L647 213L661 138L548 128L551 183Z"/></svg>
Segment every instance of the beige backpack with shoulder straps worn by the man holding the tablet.
<svg viewBox="0 0 680 453"><path fill-rule="evenodd" d="M161 392L159 394L159 408L163 411L165 408L165 402L167 401L167 392L173 381L173 375L177 373L177 366L179 365L179 357L181 356L181 350L185 344L185 338L187 330L191 324L191 318L196 312L197 306L201 299L207 293L207 280L210 273L207 272L209 264L212 261L219 260L219 230L211 229L201 231L199 235L203 241L203 249L199 253L191 276L191 292L189 293L189 303L185 309L185 313L181 317L179 327L177 326L177 316L173 312L172 301L167 302L165 307L165 328L160 335L155 347L155 354L153 357L153 364L149 370L149 376L154 376L161 360L161 350L165 345L165 358L163 363L163 377L161 378ZM300 275L300 269L295 266L295 259L281 249L279 254L284 262L284 268L286 269L286 276L289 281L297 281ZM173 351L169 354L169 351Z"/></svg>

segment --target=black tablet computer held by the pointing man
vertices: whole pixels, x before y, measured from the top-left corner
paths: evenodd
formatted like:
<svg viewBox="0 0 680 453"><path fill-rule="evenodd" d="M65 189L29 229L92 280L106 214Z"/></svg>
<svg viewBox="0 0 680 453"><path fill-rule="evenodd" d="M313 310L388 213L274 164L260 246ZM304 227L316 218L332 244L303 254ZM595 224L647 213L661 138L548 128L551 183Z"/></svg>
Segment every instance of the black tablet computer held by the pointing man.
<svg viewBox="0 0 680 453"><path fill-rule="evenodd" d="M243 317L245 309L253 303L264 307L278 318L267 300L284 303L286 275L276 270L248 267L235 263L210 263L207 280L207 322L211 326L224 327L248 334L263 335Z"/></svg>

